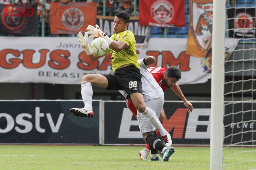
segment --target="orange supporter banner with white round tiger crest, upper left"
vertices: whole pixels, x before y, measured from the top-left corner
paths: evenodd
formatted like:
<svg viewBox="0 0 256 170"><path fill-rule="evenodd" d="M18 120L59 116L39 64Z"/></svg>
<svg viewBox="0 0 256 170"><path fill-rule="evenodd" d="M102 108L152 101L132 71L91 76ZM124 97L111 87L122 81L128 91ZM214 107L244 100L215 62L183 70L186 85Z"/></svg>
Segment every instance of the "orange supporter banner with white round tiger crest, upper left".
<svg viewBox="0 0 256 170"><path fill-rule="evenodd" d="M95 25L97 3L51 2L49 17L51 34L78 34Z"/></svg>

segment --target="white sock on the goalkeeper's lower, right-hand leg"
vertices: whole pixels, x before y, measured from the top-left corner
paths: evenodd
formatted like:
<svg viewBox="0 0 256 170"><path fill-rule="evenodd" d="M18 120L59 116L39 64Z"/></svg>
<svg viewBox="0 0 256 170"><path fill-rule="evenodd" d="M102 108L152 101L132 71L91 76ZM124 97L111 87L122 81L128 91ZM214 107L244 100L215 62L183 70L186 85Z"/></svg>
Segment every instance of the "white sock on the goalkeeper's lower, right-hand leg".
<svg viewBox="0 0 256 170"><path fill-rule="evenodd" d="M168 132L165 130L165 128L163 128L163 125L161 124L157 115L152 109L150 109L149 107L146 107L145 111L142 114L147 118L148 121L151 122L153 126L155 126L155 128L158 129L161 136L165 136L168 134Z"/></svg>

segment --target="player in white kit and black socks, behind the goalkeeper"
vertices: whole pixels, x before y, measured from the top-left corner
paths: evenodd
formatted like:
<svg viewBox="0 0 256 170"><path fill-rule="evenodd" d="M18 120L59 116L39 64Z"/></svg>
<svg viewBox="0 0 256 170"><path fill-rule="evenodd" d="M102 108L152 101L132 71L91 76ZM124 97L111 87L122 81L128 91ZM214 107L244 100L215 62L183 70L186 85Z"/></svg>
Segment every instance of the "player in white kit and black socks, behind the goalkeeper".
<svg viewBox="0 0 256 170"><path fill-rule="evenodd" d="M147 66L155 62L155 58L153 56L147 56L143 59L139 60L140 65L140 73L142 75L142 94L145 103L152 109L157 117L159 117L163 103L164 103L164 93L159 84L154 80L154 77L147 70ZM120 93L127 98L127 92L120 91ZM128 98L129 99L129 98ZM140 112L136 114L136 118L138 118L140 132L142 133L143 140L148 143L151 149L151 158L149 161L159 160L158 158L158 145L163 145L164 143L160 139L149 140L150 138L156 138L154 136L155 127L151 124L151 122ZM168 136L168 137L167 137ZM154 143L152 142L154 141ZM170 139L170 134L163 136L163 141L167 144L167 147L172 145L172 140ZM164 148L166 149L166 148ZM163 149L163 150L164 150ZM162 150L159 150L162 152ZM174 148L171 147L171 153L173 154ZM164 153L164 152L163 152ZM169 155L169 157L170 157ZM169 158L168 158L169 159ZM162 161L167 160L166 155L163 155Z"/></svg>

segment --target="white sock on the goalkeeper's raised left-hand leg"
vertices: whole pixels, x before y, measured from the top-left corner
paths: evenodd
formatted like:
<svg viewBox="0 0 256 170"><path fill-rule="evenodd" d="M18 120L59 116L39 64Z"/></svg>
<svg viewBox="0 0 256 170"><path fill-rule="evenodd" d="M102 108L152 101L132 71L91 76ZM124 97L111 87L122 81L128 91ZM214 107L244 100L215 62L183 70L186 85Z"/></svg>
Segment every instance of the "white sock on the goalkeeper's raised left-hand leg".
<svg viewBox="0 0 256 170"><path fill-rule="evenodd" d="M81 94L84 102L84 107L86 109L93 109L91 104L93 98L93 87L91 87L90 82L81 82Z"/></svg>

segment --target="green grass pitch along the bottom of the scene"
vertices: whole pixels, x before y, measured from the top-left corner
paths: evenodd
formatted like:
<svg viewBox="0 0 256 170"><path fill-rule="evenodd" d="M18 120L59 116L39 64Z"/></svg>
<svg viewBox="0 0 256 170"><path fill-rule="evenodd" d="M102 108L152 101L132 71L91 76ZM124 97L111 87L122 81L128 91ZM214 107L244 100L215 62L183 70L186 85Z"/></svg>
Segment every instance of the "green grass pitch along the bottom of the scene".
<svg viewBox="0 0 256 170"><path fill-rule="evenodd" d="M41 146L0 145L0 170L208 170L210 147L177 147L169 162L139 160L143 146ZM253 148L225 149L227 154ZM225 154L224 154L225 155ZM229 170L256 168L255 152L234 155L249 163L229 166ZM234 162L234 156L225 163ZM225 169L225 167L223 167Z"/></svg>

